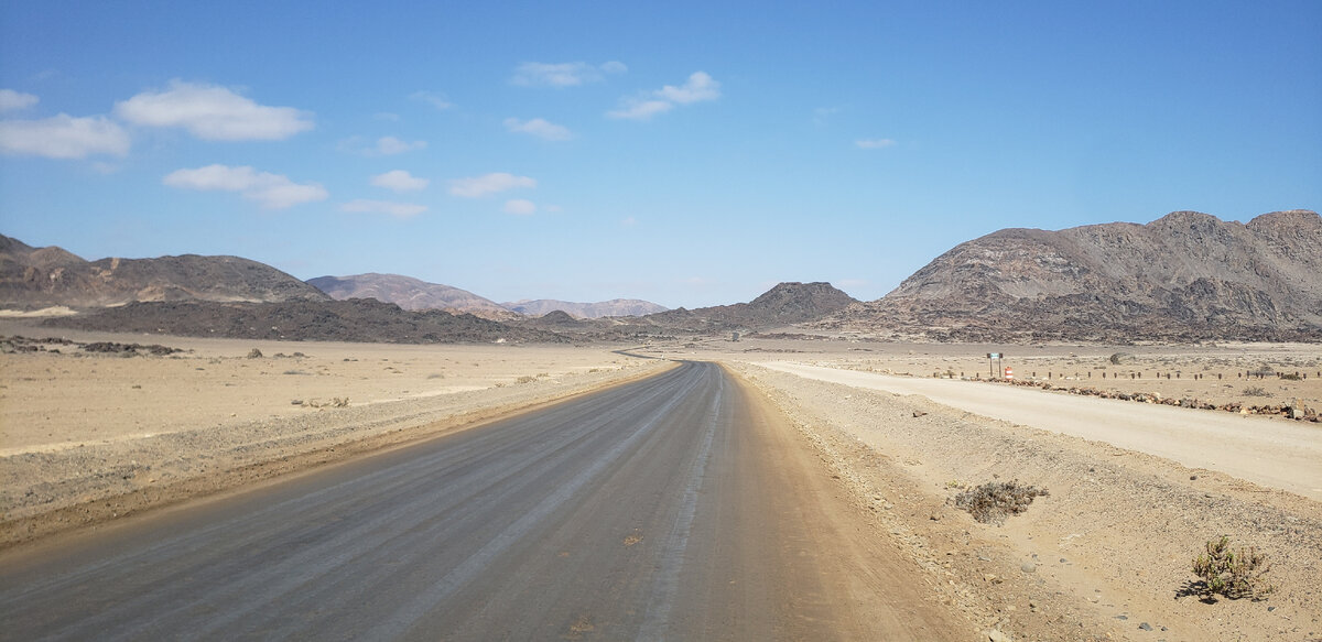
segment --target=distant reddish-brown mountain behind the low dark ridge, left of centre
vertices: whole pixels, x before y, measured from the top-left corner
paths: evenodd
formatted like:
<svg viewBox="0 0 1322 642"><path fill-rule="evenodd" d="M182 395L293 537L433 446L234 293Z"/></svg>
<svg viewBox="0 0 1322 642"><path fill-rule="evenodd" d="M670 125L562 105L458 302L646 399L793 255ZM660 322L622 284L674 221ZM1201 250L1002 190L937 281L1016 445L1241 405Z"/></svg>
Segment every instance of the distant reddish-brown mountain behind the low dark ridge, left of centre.
<svg viewBox="0 0 1322 642"><path fill-rule="evenodd" d="M332 299L375 299L393 303L406 310L446 310L471 313L484 318L517 318L496 301L472 292L439 283L427 283L411 276L379 275L375 272L353 276L319 276L309 284Z"/></svg>

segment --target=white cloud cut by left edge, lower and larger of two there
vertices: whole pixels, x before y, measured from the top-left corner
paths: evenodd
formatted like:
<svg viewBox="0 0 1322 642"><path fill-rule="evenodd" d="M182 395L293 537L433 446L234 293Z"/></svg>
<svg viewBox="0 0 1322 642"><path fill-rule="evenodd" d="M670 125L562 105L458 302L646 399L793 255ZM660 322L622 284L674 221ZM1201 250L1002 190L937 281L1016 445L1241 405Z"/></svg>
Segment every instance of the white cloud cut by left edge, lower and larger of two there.
<svg viewBox="0 0 1322 642"><path fill-rule="evenodd" d="M73 118L67 114L40 120L0 120L0 152L46 159L86 159L108 153L124 156L128 132L106 116Z"/></svg>

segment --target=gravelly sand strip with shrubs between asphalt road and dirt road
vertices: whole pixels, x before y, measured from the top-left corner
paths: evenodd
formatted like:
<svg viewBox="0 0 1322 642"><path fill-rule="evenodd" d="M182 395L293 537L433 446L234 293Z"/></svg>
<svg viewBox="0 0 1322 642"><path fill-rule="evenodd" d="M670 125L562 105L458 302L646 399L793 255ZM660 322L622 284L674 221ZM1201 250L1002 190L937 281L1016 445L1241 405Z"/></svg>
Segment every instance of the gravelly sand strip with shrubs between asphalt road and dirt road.
<svg viewBox="0 0 1322 642"><path fill-rule="evenodd" d="M985 630L1043 641L1322 635L1317 501L921 395L722 361L796 421L876 515L879 535L902 542L940 598ZM1050 495L1003 526L953 506L961 489L993 480ZM1266 552L1266 600L1187 594L1192 557L1220 535Z"/></svg>

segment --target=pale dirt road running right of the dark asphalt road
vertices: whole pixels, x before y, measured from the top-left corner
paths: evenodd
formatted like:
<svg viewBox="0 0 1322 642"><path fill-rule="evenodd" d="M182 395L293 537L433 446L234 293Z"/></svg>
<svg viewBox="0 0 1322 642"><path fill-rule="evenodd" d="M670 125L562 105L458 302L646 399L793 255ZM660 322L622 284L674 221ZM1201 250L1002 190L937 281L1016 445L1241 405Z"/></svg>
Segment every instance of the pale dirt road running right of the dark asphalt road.
<svg viewBox="0 0 1322 642"><path fill-rule="evenodd" d="M793 362L763 366L825 382L923 395L977 415L1105 441L1322 499L1322 429L1314 424Z"/></svg>

